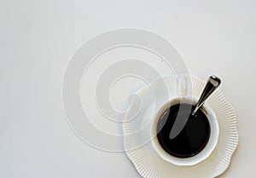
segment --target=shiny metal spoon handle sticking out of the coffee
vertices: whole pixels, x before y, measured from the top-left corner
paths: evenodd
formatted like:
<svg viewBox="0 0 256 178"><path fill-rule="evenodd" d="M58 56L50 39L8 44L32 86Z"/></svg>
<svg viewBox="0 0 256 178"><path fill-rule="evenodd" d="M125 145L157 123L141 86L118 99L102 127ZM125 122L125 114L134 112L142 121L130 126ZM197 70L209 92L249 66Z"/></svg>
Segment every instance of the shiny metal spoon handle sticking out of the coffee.
<svg viewBox="0 0 256 178"><path fill-rule="evenodd" d="M208 96L211 95L212 92L218 88L220 83L220 78L216 76L210 76L210 78L208 78L207 85L205 86L205 89L202 91L200 99L196 103L195 110L194 112L192 112L192 116L194 116L195 112L197 112L197 110L204 104Z"/></svg>

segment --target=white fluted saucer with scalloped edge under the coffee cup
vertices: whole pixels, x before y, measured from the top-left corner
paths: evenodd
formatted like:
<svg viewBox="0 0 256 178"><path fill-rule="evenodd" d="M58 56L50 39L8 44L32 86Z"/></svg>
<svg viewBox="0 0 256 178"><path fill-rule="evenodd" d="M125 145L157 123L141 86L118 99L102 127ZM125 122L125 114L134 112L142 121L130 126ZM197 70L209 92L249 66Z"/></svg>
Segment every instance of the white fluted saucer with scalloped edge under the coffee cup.
<svg viewBox="0 0 256 178"><path fill-rule="evenodd" d="M195 76L186 78L191 80L191 96L198 98L206 82ZM160 158L154 150L150 138L152 118L163 103L177 96L178 89L177 77L165 77L137 92L124 118L125 152L138 173L146 178L216 177L228 168L238 144L236 113L219 89L206 102L219 125L217 146L207 159L193 166L177 166ZM137 108L141 110L138 112Z"/></svg>

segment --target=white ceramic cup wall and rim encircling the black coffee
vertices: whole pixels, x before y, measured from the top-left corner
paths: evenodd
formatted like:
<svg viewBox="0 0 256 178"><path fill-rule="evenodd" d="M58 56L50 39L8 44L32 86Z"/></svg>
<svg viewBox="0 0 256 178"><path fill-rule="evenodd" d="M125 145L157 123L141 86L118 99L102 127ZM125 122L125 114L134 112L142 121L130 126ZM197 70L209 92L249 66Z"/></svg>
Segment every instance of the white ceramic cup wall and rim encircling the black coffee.
<svg viewBox="0 0 256 178"><path fill-rule="evenodd" d="M150 136L151 138L153 138L152 145L154 147L154 150L160 155L160 158L163 158L171 164L175 164L178 166L191 166L199 164L203 160L207 159L214 150L214 148L217 146L219 134L218 120L216 114L213 112L212 108L207 105L207 103L201 106L201 108L207 115L207 119L210 123L211 133L209 136L209 140L207 141L207 145L201 150L201 152L190 158L177 158L166 152L162 148L162 146L160 146L157 138L157 123L162 113L165 112L167 108L169 108L170 106L174 106L177 103L195 104L196 101L197 100L195 100L195 98L193 97L177 96L172 98L172 100L168 100L166 103L160 106L160 109L158 109L157 112L155 112L154 114L153 122L150 129Z"/></svg>

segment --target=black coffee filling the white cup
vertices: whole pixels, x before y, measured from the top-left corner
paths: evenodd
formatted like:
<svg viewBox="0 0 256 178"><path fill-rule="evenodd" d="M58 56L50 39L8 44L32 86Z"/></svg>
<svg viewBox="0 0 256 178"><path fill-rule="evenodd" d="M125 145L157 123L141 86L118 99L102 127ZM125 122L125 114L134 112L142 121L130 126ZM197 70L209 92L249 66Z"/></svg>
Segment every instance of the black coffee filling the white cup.
<svg viewBox="0 0 256 178"><path fill-rule="evenodd" d="M157 125L158 141L160 146L174 157L193 157L207 145L211 132L209 121L201 109L195 116L189 114L194 109L195 106L189 104L177 104L167 109L160 117ZM175 138L170 139L173 123L183 117L189 117L187 123Z"/></svg>

